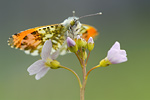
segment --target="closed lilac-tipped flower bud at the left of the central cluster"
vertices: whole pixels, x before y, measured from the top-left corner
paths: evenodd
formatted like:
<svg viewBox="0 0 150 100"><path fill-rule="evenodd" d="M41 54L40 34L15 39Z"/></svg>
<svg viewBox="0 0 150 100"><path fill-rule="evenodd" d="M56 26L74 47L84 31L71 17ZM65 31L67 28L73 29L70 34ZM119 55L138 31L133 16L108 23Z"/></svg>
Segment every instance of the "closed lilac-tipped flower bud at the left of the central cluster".
<svg viewBox="0 0 150 100"><path fill-rule="evenodd" d="M75 41L72 40L70 37L67 37L67 45L68 45L68 49L71 52L77 52L78 51L78 47L77 47Z"/></svg>

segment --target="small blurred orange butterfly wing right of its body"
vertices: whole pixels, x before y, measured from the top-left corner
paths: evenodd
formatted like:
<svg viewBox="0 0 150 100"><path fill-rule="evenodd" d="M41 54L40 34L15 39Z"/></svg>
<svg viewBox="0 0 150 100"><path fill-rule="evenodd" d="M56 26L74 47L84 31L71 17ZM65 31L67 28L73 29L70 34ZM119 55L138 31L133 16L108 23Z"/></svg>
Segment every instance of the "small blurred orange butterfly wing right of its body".
<svg viewBox="0 0 150 100"><path fill-rule="evenodd" d="M98 35L96 28L94 28L93 26L87 24L82 25L83 26L81 27L80 34L82 34L82 38L84 38L86 41L88 41L90 37L94 39Z"/></svg>

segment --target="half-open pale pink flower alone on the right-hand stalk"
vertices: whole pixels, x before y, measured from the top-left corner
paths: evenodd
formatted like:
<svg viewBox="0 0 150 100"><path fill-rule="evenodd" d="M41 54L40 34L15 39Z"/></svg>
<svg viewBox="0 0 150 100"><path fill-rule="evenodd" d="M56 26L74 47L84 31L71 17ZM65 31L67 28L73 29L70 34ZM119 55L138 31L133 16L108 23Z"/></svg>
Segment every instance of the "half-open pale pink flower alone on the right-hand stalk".
<svg viewBox="0 0 150 100"><path fill-rule="evenodd" d="M107 57L100 62L100 65L106 67L110 64L118 64L127 61L127 54L125 50L120 49L120 43L115 44L110 48L107 53Z"/></svg>

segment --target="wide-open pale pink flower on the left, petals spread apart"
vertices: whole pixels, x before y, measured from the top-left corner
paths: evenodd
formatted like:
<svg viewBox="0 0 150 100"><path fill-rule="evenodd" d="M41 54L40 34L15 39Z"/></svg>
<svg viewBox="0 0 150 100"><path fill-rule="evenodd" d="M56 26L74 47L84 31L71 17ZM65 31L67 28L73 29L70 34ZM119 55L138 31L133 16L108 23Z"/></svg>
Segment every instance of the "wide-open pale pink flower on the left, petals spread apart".
<svg viewBox="0 0 150 100"><path fill-rule="evenodd" d="M47 40L44 43L44 46L42 48L41 52L41 60L38 60L34 62L27 71L29 72L29 75L34 75L36 80L39 80L42 78L49 69L56 69L59 67L59 62L54 60L58 57L59 51L54 52L50 55L52 49L52 42L51 40ZM54 64L55 63L55 64Z"/></svg>

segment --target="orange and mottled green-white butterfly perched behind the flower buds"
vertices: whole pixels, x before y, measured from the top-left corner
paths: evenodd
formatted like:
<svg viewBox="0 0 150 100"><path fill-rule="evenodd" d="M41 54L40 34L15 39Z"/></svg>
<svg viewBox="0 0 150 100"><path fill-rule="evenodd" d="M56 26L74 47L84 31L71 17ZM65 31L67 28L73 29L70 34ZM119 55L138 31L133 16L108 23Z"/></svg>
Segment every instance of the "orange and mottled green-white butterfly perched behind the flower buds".
<svg viewBox="0 0 150 100"><path fill-rule="evenodd" d="M60 51L60 55L67 52L66 38L73 39L80 35L86 41L98 35L97 30L90 25L81 24L78 17L69 17L62 23L35 27L13 34L8 39L12 48L24 50L26 54L36 56L41 53L46 40L51 39L52 52Z"/></svg>

